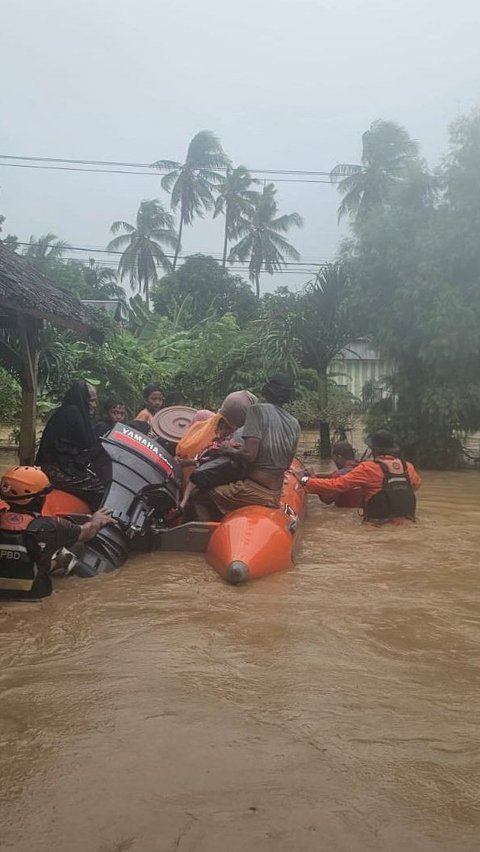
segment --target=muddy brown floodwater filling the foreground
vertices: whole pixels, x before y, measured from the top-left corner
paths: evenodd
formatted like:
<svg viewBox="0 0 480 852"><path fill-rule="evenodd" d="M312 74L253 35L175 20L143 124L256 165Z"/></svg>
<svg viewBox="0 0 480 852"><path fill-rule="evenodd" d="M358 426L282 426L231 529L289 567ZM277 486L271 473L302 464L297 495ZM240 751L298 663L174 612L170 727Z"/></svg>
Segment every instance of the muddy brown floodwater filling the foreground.
<svg viewBox="0 0 480 852"><path fill-rule="evenodd" d="M479 849L480 475L310 508L244 588L152 555L2 607L2 852Z"/></svg>

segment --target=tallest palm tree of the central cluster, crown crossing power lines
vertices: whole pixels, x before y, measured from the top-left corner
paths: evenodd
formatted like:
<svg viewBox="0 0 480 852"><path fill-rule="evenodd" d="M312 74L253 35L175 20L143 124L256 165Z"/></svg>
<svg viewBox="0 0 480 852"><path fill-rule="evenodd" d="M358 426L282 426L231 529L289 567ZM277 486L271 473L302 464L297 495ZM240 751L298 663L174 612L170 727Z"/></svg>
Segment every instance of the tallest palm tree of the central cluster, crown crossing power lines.
<svg viewBox="0 0 480 852"><path fill-rule="evenodd" d="M188 146L184 163L175 160L157 160L153 169L167 169L162 178L162 187L171 192L172 210L180 208L178 239L173 259L176 268L182 242L184 225L191 225L195 216L203 216L213 207L213 192L221 183L222 175L216 169L226 169L229 164L220 140L210 132L201 130Z"/></svg>

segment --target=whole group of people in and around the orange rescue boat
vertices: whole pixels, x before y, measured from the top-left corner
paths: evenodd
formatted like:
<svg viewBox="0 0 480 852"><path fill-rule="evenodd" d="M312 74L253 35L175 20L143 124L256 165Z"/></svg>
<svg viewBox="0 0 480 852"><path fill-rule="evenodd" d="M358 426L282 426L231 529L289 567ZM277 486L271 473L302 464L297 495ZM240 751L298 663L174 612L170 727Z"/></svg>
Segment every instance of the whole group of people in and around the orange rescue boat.
<svg viewBox="0 0 480 852"><path fill-rule="evenodd" d="M178 517L219 520L244 506L280 506L285 472L300 437L300 424L284 408L293 393L290 378L277 373L265 382L263 401L241 390L229 394L217 413L197 411L176 447L168 446L184 478ZM155 438L154 418L164 405L161 387L149 385L144 391L144 407L130 425ZM121 399L111 397L105 402L103 419L94 423L96 408L95 388L85 381L74 382L47 422L36 466L12 468L2 478L0 497L5 504L0 512L0 565L3 562L4 567L9 559L17 564L10 583L8 571L1 572L7 576L0 578L0 591L34 598L49 594L54 552L87 541L112 523L108 509L98 509L105 490L99 439L115 423L126 421L127 407ZM334 474L305 471L299 474L300 483L325 503L334 502L341 508L362 506L367 521L414 520L418 473L400 457L390 432L380 430L368 443L372 459L357 464L353 448L343 441L333 448ZM91 519L80 525L43 517L42 506L52 487L86 501L93 512Z"/></svg>

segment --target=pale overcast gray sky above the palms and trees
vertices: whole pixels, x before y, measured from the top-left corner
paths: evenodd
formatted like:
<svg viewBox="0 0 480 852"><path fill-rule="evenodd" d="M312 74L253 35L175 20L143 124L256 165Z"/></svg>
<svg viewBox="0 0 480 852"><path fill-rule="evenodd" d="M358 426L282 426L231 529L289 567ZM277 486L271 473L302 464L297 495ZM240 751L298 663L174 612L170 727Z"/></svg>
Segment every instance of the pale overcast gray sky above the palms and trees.
<svg viewBox="0 0 480 852"><path fill-rule="evenodd" d="M479 24L478 0L15 0L0 32L0 153L183 160L209 129L236 164L330 170L358 162L383 118L434 165L448 123L480 101ZM302 257L332 258L334 187L278 188L282 212L304 217L291 232ZM53 231L104 248L111 222L155 196L154 175L0 167L0 212L22 240ZM195 224L184 251L219 253L220 231Z"/></svg>

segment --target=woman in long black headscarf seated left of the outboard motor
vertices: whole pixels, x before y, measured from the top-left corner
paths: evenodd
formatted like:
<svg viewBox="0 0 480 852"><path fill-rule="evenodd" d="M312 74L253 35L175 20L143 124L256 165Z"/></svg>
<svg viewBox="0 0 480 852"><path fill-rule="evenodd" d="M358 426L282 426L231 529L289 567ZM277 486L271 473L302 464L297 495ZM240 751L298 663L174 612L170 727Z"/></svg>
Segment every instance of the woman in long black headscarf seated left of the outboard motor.
<svg viewBox="0 0 480 852"><path fill-rule="evenodd" d="M95 388L75 381L50 417L38 448L35 463L52 485L98 508L104 486L90 468L95 445L92 415L97 407Z"/></svg>

